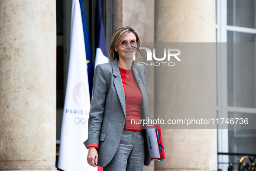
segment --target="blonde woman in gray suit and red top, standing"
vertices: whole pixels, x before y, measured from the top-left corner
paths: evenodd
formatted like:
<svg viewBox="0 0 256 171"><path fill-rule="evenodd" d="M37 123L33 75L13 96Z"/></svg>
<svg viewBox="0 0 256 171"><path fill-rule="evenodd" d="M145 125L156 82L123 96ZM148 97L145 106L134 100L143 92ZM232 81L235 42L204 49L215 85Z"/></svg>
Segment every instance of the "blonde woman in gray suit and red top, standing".
<svg viewBox="0 0 256 171"><path fill-rule="evenodd" d="M133 61L141 42L126 26L116 30L109 48L109 63L97 65L88 122L89 165L104 171L143 171L150 164L146 126L131 119L148 119L145 68ZM135 48L134 48L135 47Z"/></svg>

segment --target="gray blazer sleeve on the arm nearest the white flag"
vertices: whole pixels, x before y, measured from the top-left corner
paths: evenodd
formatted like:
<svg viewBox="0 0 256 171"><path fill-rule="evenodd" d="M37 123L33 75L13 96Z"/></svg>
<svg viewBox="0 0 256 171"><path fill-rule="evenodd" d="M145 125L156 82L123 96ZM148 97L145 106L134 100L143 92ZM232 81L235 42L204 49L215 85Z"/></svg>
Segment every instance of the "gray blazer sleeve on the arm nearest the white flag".
<svg viewBox="0 0 256 171"><path fill-rule="evenodd" d="M105 99L107 96L107 76L103 65L97 65L93 79L93 98L88 120L88 139L85 147L90 144L99 145L99 135L104 114Z"/></svg>

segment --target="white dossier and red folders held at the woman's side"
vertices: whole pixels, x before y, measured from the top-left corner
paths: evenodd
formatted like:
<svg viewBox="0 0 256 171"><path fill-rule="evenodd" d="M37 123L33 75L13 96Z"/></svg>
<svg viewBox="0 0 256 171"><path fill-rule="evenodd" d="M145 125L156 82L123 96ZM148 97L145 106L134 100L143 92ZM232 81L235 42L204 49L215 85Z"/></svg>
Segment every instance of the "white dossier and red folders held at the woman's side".
<svg viewBox="0 0 256 171"><path fill-rule="evenodd" d="M160 124L147 126L151 158L163 161L165 159L165 152L163 147Z"/></svg>

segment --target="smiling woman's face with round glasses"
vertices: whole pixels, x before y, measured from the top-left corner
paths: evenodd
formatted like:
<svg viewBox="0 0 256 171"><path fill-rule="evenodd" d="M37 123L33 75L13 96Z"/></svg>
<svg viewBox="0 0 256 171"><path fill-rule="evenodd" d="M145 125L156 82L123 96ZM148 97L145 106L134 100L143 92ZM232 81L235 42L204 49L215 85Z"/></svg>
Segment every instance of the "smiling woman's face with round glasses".
<svg viewBox="0 0 256 171"><path fill-rule="evenodd" d="M123 47L122 45L118 45L115 48L115 51L118 52L119 58L123 60L133 60L133 48L131 46L131 42L136 42L136 35L133 34L133 32L130 32L126 35L124 40L122 42L126 42L126 47ZM128 43L127 43L128 42ZM134 47L137 47L135 45Z"/></svg>

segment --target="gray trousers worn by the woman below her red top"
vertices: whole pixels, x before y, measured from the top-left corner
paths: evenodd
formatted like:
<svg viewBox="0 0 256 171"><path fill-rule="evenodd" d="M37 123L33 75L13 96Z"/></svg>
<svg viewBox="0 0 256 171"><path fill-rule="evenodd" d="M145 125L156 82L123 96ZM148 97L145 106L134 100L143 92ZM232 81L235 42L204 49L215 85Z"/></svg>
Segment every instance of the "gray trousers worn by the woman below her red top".
<svg viewBox="0 0 256 171"><path fill-rule="evenodd" d="M143 132L123 130L117 152L103 171L143 171L144 143Z"/></svg>

